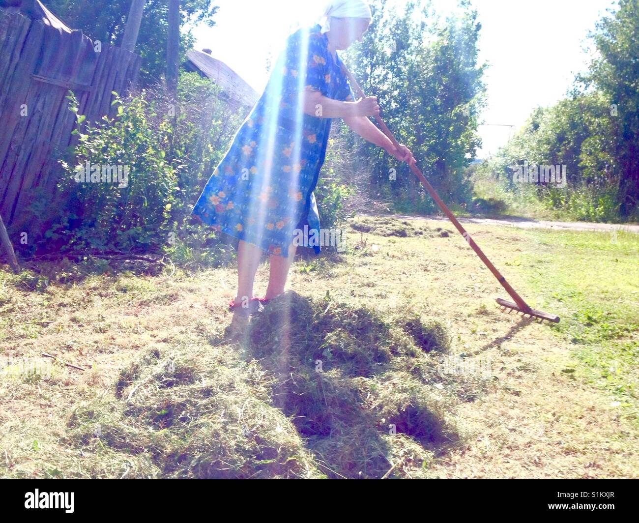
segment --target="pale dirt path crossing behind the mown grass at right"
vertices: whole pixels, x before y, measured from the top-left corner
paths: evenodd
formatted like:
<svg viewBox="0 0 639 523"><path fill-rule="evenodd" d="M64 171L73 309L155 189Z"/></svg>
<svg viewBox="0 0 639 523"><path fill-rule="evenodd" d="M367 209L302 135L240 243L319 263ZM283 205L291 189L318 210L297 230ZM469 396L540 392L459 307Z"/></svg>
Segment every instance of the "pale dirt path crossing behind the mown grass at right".
<svg viewBox="0 0 639 523"><path fill-rule="evenodd" d="M434 220L449 221L445 216L406 216L401 214L385 214L368 216L374 217L394 217L403 220ZM520 218L514 216L495 218L463 218L460 217L461 223L472 223L477 225L502 225L518 227L521 229L555 229L555 230L573 230L573 231L626 231L639 234L639 225L619 225L611 223L590 223L590 222L553 222L547 220L534 220L530 218Z"/></svg>

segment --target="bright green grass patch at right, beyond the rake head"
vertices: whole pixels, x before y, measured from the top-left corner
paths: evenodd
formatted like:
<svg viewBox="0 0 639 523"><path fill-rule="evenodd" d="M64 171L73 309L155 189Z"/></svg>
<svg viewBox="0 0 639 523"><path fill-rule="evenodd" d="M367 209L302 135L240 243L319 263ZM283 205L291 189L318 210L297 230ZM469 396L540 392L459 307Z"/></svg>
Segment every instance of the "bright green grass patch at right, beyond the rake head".
<svg viewBox="0 0 639 523"><path fill-rule="evenodd" d="M522 233L523 234L523 233ZM538 248L523 256L533 288L568 311L557 326L580 372L639 420L639 235L617 231L526 231Z"/></svg>

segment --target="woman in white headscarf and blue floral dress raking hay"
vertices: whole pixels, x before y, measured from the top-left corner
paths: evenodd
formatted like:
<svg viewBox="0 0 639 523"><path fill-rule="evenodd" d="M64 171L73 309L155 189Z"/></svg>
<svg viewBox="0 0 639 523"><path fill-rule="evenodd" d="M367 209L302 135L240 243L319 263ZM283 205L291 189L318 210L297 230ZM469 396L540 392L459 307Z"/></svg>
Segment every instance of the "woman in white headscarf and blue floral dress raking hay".
<svg viewBox="0 0 639 523"><path fill-rule="evenodd" d="M337 51L361 42L371 24L364 0L334 0L323 24L288 39L264 94L238 130L231 148L194 207L193 214L236 237L238 292L231 309L256 309L284 292L295 257L296 231L319 231L313 190L325 159L332 118L399 160L414 162L406 146L397 150L369 120L380 114L376 97L355 101ZM319 249L316 248L316 251ZM253 297L261 254L270 255L263 299Z"/></svg>

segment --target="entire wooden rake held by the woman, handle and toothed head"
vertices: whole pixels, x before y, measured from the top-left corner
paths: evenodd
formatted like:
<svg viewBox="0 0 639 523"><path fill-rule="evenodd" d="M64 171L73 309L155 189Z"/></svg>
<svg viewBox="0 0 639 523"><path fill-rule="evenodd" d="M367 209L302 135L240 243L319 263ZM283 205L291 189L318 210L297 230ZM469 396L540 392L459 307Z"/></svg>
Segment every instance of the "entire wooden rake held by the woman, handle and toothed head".
<svg viewBox="0 0 639 523"><path fill-rule="evenodd" d="M357 93L357 95L361 98L366 98L366 94L364 94L364 91L362 91L362 88L359 86L359 84L357 83L357 80L351 74L348 68L346 68L345 65L342 65L342 70L344 74L348 77L349 81L351 82L351 86L353 86L353 88L355 89L355 93ZM389 137L393 145L397 149L399 149L400 148L399 143L393 136L392 132L390 132L390 129L387 127L387 125L384 123L381 117L377 116L375 120L377 121L382 132L387 137ZM413 171L413 174L417 176L417 178L419 178L420 182L422 182L424 187L426 187L426 191L428 191L428 194L430 194L431 197L435 200L439 208L442 209L443 214L447 215L447 217L452 222L452 224L456 227L459 233L464 237L466 242L468 242L468 245L472 247L473 251L475 251L477 256L481 258L481 261L484 262L484 265L488 267L490 272L493 273L493 276L497 278L497 281L502 284L502 287L505 288L506 292L509 293L511 298L514 300L514 302L511 302L508 300L504 300L502 298L495 299L495 301L497 301L497 303L502 307L502 310L508 310L509 313L511 313L512 311L516 311L516 313L521 313L524 316L529 316L530 318L533 318L533 317L540 318L541 320L546 320L548 322L553 322L558 324L559 316L544 313L543 311L538 311L537 309L532 309L528 306L528 304L523 300L523 298L506 281L505 277L502 276L502 273L499 272L497 268L495 268L495 265L491 263L491 261L488 259L486 254L484 254L484 252L475 243L475 240L473 240L473 238L470 237L470 235L466 232L463 226L461 226L461 223L459 223L459 220L455 217L454 214L452 214L452 212L447 207L447 205L443 203L442 198L440 198L439 194L437 194L435 189L433 189L433 186L428 182L428 180L426 180L426 176L424 176L424 173L422 173L422 171L420 171L420 169L416 165L410 165L410 169L411 171Z"/></svg>

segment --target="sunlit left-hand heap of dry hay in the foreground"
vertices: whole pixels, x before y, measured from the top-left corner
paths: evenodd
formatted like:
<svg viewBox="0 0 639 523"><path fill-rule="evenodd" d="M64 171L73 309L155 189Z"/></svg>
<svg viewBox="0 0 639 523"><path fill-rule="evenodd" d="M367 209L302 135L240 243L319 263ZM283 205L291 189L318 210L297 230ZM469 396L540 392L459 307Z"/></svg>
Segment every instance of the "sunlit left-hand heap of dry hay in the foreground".
<svg viewBox="0 0 639 523"><path fill-rule="evenodd" d="M230 350L225 347L226 350ZM69 444L95 477L317 478L291 422L269 405L257 363L221 348L184 344L150 352L121 373L115 398L73 412Z"/></svg>

